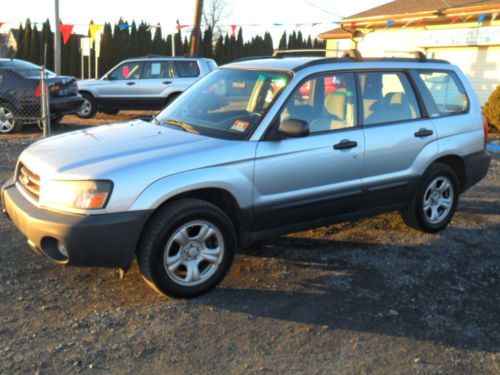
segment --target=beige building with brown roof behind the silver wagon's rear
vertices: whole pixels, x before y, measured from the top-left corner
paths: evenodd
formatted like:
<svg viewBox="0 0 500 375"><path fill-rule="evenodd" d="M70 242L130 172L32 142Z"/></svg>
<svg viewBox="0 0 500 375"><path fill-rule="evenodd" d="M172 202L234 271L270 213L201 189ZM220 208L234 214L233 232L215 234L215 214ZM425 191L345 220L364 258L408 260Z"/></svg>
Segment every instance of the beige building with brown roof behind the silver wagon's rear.
<svg viewBox="0 0 500 375"><path fill-rule="evenodd" d="M500 84L499 0L395 0L319 36L330 55L349 48L363 56L418 50L448 60L469 77L482 103Z"/></svg>

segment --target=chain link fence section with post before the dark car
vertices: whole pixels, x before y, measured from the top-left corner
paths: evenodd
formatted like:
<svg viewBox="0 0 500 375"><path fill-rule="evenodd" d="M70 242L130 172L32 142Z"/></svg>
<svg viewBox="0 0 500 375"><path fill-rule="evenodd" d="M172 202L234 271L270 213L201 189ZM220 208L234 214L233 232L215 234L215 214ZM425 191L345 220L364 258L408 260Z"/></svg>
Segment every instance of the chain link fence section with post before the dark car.
<svg viewBox="0 0 500 375"><path fill-rule="evenodd" d="M37 124L50 133L47 75L42 68L12 69L0 65L0 134Z"/></svg>

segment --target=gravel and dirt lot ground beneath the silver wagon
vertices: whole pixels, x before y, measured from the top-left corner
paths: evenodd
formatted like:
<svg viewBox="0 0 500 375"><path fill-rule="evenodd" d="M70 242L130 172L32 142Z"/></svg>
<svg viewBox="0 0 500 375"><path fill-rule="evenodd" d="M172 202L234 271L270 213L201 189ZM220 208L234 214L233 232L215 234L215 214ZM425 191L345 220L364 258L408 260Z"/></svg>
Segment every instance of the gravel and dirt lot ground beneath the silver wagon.
<svg viewBox="0 0 500 375"><path fill-rule="evenodd" d="M39 136L0 138L0 180ZM276 238L190 301L55 265L0 215L0 373L500 374L496 155L437 235L386 214Z"/></svg>

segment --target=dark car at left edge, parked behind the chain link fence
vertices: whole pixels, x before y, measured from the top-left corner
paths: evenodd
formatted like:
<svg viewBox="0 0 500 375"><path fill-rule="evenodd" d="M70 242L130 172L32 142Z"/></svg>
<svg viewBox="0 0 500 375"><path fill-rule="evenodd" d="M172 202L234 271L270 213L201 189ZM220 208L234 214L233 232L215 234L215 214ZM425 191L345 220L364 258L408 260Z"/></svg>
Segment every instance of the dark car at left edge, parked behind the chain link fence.
<svg viewBox="0 0 500 375"><path fill-rule="evenodd" d="M52 122L76 113L83 98L74 77L47 72ZM28 61L0 59L0 133L15 133L41 118L41 67Z"/></svg>

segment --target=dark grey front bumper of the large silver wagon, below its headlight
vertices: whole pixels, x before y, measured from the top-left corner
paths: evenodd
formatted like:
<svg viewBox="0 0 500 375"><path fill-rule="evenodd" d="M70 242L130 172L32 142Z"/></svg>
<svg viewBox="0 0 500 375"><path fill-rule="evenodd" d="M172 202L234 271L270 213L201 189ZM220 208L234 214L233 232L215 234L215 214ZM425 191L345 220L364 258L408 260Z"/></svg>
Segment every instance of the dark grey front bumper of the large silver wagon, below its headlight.
<svg viewBox="0 0 500 375"><path fill-rule="evenodd" d="M127 268L149 211L73 215L39 208L9 180L1 190L3 209L33 250L63 264ZM61 243L64 257L57 249Z"/></svg>

